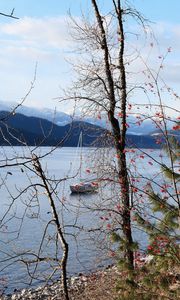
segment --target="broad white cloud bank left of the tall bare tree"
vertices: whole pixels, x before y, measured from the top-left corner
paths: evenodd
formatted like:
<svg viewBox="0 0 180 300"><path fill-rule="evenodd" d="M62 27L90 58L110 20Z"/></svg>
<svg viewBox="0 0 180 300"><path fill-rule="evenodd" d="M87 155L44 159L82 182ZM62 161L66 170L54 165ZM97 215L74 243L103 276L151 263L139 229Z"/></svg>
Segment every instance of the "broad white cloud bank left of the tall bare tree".
<svg viewBox="0 0 180 300"><path fill-rule="evenodd" d="M26 17L0 24L0 41L0 98L16 101L23 97L38 61L36 87L27 103L51 106L51 98L59 95L59 84L68 81L64 50L71 41L65 17Z"/></svg>

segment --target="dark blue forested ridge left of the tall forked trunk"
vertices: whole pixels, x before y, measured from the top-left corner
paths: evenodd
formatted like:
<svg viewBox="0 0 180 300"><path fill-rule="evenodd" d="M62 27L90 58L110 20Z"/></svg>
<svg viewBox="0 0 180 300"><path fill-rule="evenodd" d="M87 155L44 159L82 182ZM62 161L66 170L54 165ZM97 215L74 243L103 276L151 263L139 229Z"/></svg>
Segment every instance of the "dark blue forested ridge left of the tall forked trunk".
<svg viewBox="0 0 180 300"><path fill-rule="evenodd" d="M0 145L29 146L77 146L79 135L83 133L83 146L92 145L96 138L105 130L85 122L73 122L65 126L58 126L46 119L27 117L16 113L9 115L7 111L0 111L1 135Z"/></svg>

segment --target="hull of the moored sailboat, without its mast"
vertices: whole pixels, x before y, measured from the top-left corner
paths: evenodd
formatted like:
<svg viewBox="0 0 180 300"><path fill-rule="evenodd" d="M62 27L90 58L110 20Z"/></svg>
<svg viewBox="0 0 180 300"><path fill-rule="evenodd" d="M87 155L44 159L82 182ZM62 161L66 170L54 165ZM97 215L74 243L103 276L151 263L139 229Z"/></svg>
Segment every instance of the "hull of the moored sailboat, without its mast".
<svg viewBox="0 0 180 300"><path fill-rule="evenodd" d="M80 182L73 185L70 185L70 190L72 193L94 193L98 190L98 182Z"/></svg>

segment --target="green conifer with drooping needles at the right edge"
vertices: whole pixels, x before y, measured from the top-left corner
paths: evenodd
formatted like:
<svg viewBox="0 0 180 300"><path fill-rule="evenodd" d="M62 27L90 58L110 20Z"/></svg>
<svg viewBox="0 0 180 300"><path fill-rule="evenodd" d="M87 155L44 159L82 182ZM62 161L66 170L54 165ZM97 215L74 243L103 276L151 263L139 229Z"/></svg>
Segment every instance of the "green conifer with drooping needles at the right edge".
<svg viewBox="0 0 180 300"><path fill-rule="evenodd" d="M166 299L167 295L170 297L168 299L178 297L178 284L175 284L180 264L178 136L167 136L164 150L170 162L170 165L161 166L165 182L159 185L159 191L157 186L155 188L151 184L149 191L146 191L151 203L152 217L146 220L140 213L135 214L137 223L149 236L147 254L151 255L151 263L146 266L143 278L144 287L150 287L154 293L149 299L155 299L155 295L157 299Z"/></svg>

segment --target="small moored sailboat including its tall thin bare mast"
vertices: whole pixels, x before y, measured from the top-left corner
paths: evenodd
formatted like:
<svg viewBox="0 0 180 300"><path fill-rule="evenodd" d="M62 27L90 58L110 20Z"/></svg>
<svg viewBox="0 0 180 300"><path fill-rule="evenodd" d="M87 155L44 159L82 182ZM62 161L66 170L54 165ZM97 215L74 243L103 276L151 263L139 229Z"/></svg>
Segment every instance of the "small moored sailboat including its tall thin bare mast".
<svg viewBox="0 0 180 300"><path fill-rule="evenodd" d="M80 149L82 149L82 132L79 136L79 142L78 146ZM82 159L82 152L81 152L81 158ZM80 165L81 167L81 165ZM91 179L91 180L80 180L79 182L70 185L71 193L94 193L98 191L98 181L97 179Z"/></svg>

